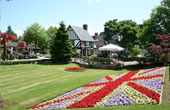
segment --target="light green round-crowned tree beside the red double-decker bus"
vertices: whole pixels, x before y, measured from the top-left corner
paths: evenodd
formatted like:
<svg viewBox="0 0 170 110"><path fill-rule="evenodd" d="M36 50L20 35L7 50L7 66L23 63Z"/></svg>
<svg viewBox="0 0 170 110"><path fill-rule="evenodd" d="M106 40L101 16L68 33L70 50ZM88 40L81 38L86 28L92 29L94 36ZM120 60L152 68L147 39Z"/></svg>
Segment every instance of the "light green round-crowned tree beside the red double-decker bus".
<svg viewBox="0 0 170 110"><path fill-rule="evenodd" d="M48 48L48 35L46 30L38 23L32 24L24 31L23 40L27 44L33 44L35 46L35 53L37 53L37 48L44 51Z"/></svg>

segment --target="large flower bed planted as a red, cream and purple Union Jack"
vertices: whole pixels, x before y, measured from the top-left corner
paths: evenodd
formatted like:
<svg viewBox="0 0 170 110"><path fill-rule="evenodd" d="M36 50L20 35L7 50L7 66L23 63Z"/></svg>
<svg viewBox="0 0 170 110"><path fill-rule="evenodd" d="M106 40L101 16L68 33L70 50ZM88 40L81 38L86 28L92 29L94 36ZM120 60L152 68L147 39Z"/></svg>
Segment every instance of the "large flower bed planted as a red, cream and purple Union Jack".
<svg viewBox="0 0 170 110"><path fill-rule="evenodd" d="M159 104L165 67L108 75L32 109Z"/></svg>

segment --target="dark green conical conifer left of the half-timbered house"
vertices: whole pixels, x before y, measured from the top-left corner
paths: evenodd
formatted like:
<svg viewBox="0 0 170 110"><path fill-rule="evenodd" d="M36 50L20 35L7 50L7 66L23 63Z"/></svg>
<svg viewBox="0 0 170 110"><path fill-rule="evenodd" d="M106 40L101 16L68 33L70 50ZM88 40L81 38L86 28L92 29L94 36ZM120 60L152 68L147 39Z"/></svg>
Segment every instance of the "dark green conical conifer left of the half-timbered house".
<svg viewBox="0 0 170 110"><path fill-rule="evenodd" d="M51 60L53 63L69 63L71 57L72 44L69 40L65 24L61 22L51 46Z"/></svg>

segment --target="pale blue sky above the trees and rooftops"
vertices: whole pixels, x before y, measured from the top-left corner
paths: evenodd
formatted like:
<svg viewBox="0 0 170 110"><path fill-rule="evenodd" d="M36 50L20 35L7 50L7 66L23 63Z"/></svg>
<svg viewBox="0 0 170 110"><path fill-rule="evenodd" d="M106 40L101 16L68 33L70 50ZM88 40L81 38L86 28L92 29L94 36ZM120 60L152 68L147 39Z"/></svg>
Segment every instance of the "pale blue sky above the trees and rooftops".
<svg viewBox="0 0 170 110"><path fill-rule="evenodd" d="M102 32L108 20L132 19L138 24L150 17L153 8L161 0L6 0L0 1L0 28L3 32L8 25L17 34L31 24L38 22L48 29L58 26L60 21L68 25L88 24L91 35Z"/></svg>

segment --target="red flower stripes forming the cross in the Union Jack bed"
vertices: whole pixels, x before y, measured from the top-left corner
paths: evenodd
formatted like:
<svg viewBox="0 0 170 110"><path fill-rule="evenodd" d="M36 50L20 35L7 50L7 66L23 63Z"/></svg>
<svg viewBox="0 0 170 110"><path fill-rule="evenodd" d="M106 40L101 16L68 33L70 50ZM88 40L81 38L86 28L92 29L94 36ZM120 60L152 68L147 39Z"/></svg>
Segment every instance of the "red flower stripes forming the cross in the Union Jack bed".
<svg viewBox="0 0 170 110"><path fill-rule="evenodd" d="M159 67L159 68L161 68L161 67ZM159 68L151 69L151 70L146 71L142 74L146 74L148 72L154 71L154 70L159 69ZM158 75L152 75L152 76L146 76L146 77L143 76L143 77L139 77L139 78L132 78L138 72L139 71L129 72L129 73L125 74L124 76L122 76L122 77L120 77L116 80L113 80L111 77L106 76L105 78L109 80L108 82L84 85L83 87L92 87L92 86L100 86L100 85L105 85L105 86L103 88L99 89L98 91L91 93L90 95L83 98L82 100L73 103L68 108L78 108L80 105L81 105L81 107L87 107L87 106L93 107L97 102L99 102L102 98L107 96L114 89L116 89L117 87L122 85L122 83L124 83L124 82L143 80L143 79L151 79L151 78L154 78L154 77L163 77L163 74L158 74ZM142 74L140 74L140 75L142 75ZM138 84L135 84L135 83L132 83L132 82L129 82L128 86L131 86L132 88L134 88L138 91L145 89L144 87L139 86ZM145 91L146 92L143 92L143 94L147 95L149 98L154 98L159 103L160 95L158 93L156 93L152 90L149 90L149 89L145 89ZM149 94L147 94L147 93L149 93ZM153 95L156 95L156 97L152 97Z"/></svg>

